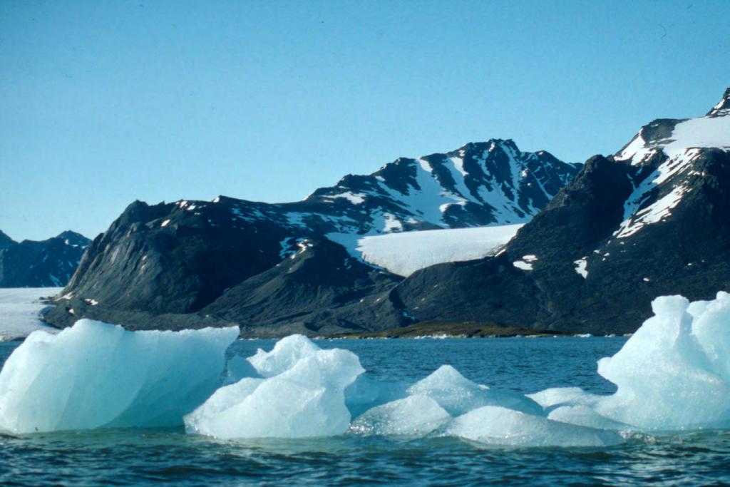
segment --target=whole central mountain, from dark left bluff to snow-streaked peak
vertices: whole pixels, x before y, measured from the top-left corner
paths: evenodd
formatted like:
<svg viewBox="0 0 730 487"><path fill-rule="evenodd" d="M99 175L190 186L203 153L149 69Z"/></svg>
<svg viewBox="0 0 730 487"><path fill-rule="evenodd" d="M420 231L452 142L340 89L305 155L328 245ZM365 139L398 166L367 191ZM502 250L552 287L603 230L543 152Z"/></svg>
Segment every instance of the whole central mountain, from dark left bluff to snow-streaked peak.
<svg viewBox="0 0 730 487"><path fill-rule="evenodd" d="M46 320L235 322L258 335L403 326L412 318L391 293L401 277L352 258L329 234L529 221L579 169L492 139L347 175L301 202L134 202L94 239Z"/></svg>

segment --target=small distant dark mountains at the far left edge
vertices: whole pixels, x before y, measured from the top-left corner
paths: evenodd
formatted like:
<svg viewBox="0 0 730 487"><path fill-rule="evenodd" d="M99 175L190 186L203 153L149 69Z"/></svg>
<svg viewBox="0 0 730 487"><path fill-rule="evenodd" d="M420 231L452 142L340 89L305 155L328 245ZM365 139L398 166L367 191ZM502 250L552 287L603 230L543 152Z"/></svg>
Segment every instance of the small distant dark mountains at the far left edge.
<svg viewBox="0 0 730 487"><path fill-rule="evenodd" d="M0 288L66 285L90 243L73 231L41 242L15 242L0 231Z"/></svg>

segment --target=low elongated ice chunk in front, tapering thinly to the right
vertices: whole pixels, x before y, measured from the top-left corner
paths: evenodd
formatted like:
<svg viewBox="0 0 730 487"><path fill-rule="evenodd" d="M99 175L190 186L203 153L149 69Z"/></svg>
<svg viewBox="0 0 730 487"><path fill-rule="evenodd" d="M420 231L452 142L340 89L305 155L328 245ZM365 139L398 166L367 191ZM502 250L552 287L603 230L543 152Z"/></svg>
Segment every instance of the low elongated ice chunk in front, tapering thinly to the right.
<svg viewBox="0 0 730 487"><path fill-rule="evenodd" d="M445 435L485 445L602 447L623 438L603 429L560 423L505 407L485 406L456 418Z"/></svg>

